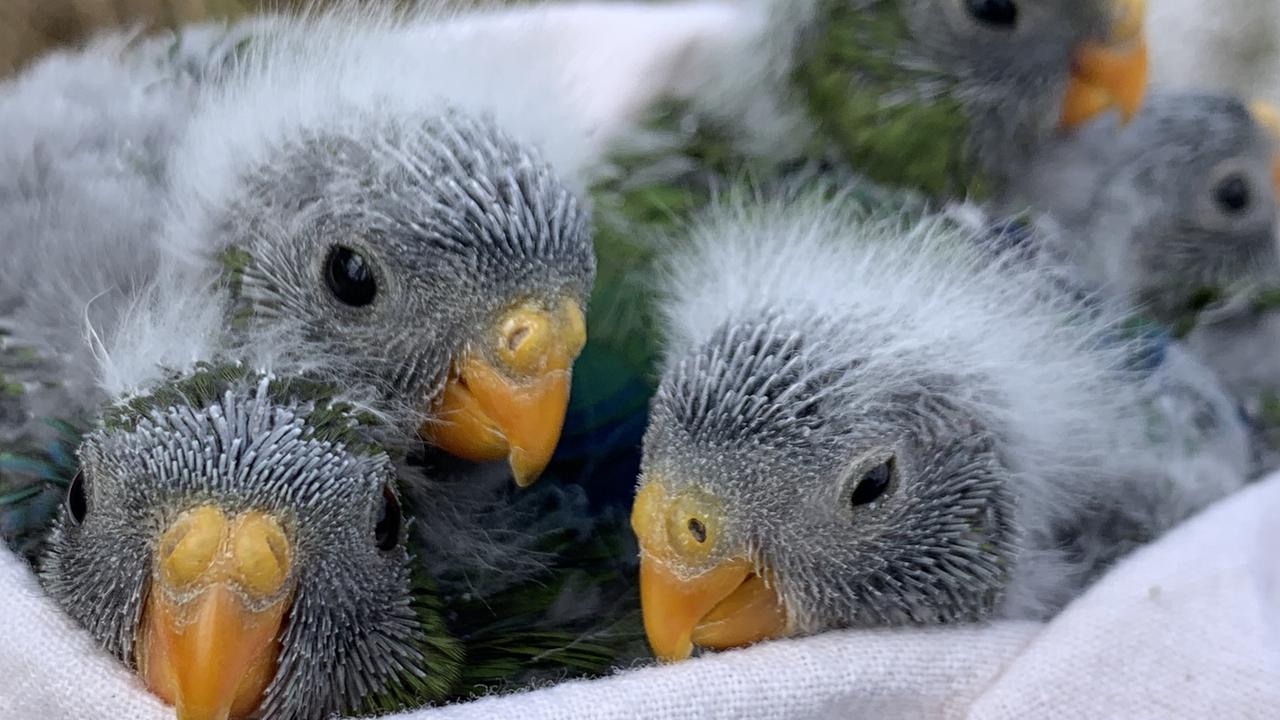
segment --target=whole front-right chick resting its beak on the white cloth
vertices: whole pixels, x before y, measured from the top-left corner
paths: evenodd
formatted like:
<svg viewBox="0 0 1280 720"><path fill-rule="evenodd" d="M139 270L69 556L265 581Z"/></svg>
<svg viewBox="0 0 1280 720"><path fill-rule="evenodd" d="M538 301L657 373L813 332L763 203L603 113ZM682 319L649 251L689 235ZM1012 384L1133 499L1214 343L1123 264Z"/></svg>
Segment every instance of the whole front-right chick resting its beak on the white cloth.
<svg viewBox="0 0 1280 720"><path fill-rule="evenodd" d="M632 512L662 659L1044 618L1243 483L1212 386L1166 413L1119 314L946 219L731 204L668 268Z"/></svg>

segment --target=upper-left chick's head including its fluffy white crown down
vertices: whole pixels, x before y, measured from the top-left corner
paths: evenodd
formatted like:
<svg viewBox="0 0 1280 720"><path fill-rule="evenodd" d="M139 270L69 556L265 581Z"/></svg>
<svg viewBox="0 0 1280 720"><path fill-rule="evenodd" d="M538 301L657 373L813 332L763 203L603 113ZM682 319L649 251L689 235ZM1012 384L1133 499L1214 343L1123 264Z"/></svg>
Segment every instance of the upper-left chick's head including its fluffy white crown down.
<svg viewBox="0 0 1280 720"><path fill-rule="evenodd" d="M543 152L575 126L531 99L554 77L445 18L259 20L174 156L166 237L225 270L242 324L301 328L338 384L385 388L396 427L526 486L594 278L573 163Z"/></svg>

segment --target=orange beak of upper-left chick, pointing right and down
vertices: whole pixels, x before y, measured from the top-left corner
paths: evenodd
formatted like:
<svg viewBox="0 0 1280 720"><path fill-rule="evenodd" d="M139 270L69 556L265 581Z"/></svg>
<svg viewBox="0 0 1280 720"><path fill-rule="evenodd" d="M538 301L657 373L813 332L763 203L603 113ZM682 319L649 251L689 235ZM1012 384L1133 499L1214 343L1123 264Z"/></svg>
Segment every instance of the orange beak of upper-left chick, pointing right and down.
<svg viewBox="0 0 1280 720"><path fill-rule="evenodd" d="M506 457L516 484L527 487L559 442L586 322L571 300L556 311L521 305L502 315L492 336L492 348L467 350L453 363L433 419L419 432L465 460Z"/></svg>

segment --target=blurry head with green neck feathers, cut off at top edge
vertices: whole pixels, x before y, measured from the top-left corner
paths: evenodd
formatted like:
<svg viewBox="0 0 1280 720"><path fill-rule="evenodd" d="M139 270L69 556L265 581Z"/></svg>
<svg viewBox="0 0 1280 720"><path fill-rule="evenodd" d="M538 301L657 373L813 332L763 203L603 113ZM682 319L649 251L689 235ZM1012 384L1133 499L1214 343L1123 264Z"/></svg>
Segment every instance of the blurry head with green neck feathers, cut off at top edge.
<svg viewBox="0 0 1280 720"><path fill-rule="evenodd" d="M1144 0L814 8L796 79L824 132L879 182L991 191L1055 133L1112 109L1132 118L1146 91Z"/></svg>

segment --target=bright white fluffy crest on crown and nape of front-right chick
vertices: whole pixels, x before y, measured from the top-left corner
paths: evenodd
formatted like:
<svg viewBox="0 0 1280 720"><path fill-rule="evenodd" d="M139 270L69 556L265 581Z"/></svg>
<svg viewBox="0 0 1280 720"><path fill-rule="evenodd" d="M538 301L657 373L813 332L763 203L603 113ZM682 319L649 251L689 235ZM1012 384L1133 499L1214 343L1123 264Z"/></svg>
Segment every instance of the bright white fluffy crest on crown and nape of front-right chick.
<svg viewBox="0 0 1280 720"><path fill-rule="evenodd" d="M855 360L904 373L982 378L1019 436L1027 466L1074 466L1116 441L1134 392L1129 348L1103 338L1119 315L1068 322L1073 300L1034 269L997 263L940 218L867 218L838 202L730 202L695 227L671 263L671 352L731 316L764 309L824 319L832 368ZM868 343L861 318L896 328ZM842 322L845 320L845 322Z"/></svg>

